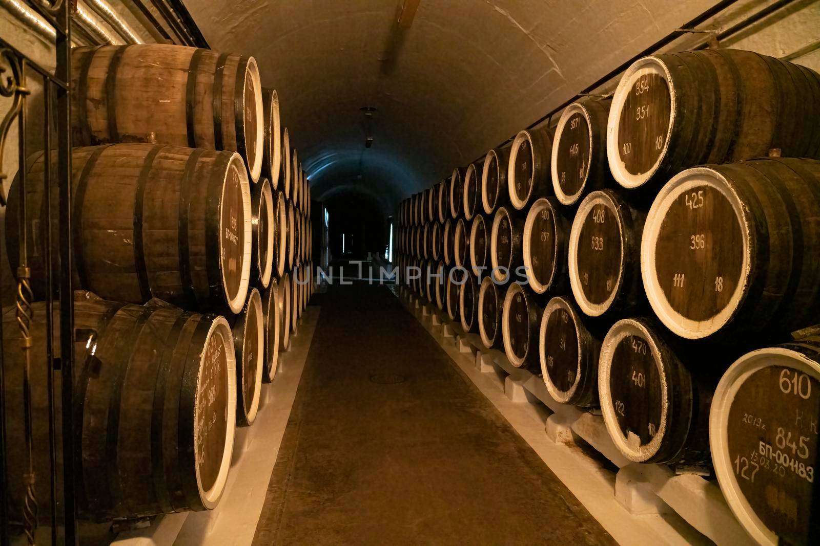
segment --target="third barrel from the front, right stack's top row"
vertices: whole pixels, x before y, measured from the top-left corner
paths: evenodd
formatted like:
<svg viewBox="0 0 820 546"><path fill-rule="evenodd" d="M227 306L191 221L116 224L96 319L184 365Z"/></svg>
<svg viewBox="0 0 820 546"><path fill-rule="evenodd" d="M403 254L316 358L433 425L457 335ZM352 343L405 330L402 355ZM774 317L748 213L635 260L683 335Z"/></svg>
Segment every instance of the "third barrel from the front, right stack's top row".
<svg viewBox="0 0 820 546"><path fill-rule="evenodd" d="M514 209L526 209L535 199L552 193L549 176L552 147L553 134L549 129L524 130L512 141L507 187Z"/></svg>

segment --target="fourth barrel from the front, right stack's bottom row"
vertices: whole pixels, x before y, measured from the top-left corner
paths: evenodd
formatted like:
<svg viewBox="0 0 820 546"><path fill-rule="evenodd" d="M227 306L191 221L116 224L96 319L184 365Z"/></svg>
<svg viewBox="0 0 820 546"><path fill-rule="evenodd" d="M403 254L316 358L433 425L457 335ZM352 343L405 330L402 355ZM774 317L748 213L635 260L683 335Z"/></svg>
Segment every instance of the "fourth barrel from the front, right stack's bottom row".
<svg viewBox="0 0 820 546"><path fill-rule="evenodd" d="M501 335L504 353L516 368L539 369L538 334L542 313L530 290L517 282L509 285L501 314Z"/></svg>

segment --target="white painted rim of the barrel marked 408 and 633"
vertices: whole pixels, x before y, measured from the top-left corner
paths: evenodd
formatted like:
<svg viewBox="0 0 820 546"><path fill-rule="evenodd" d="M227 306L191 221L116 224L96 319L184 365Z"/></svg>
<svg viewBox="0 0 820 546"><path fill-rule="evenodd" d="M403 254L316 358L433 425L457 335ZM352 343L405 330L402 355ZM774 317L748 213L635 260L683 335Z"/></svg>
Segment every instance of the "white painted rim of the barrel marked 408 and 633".
<svg viewBox="0 0 820 546"><path fill-rule="evenodd" d="M609 297L604 300L603 303L594 304L590 300L586 299L584 294L583 283L581 282L581 274L578 273L578 244L581 241L581 229L584 227L584 220L587 218L588 214L592 211L592 208L595 205L604 205L609 210L612 210L613 216L617 222L618 232L620 232L620 241L624 239L624 232L623 232L623 212L618 207L612 198L608 195L607 192L602 192L600 190L595 192L590 192L584 198L584 201L581 201L581 205L578 205L578 210L575 214L575 219L572 220L572 229L569 232L569 284L572 288L572 296L575 296L575 301L581 311L589 315L590 317L599 317L602 314L606 313L607 310L613 305L613 301L617 297L618 293L621 291L621 285L623 284L623 264L626 258L624 254L625 250L623 244L621 245L621 267L618 268L617 279L615 279L615 286L613 287L612 292L609 294Z"/></svg>

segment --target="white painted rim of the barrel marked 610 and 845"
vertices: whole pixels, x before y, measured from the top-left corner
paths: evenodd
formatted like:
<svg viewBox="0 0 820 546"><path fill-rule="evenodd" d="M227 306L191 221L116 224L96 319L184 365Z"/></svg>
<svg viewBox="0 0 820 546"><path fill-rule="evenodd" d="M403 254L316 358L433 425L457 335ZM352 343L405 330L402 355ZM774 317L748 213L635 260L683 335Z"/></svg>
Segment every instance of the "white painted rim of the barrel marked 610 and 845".
<svg viewBox="0 0 820 546"><path fill-rule="evenodd" d="M712 407L709 409L709 448L712 452L717 483L740 525L758 544L777 546L777 535L757 516L754 508L740 491L740 485L732 470L733 463L727 443L729 410L735 401L737 391L755 372L772 366L799 370L820 381L820 363L798 351L786 347L769 347L744 354L731 364L715 389Z"/></svg>

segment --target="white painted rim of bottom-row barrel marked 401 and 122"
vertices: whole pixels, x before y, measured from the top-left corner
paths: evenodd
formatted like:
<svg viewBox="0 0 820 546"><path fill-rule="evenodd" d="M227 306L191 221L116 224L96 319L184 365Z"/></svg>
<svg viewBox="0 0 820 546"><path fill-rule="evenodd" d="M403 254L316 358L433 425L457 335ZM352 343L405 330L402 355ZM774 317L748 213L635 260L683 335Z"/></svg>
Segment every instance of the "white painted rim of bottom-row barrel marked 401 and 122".
<svg viewBox="0 0 820 546"><path fill-rule="evenodd" d="M612 393L609 390L609 373L612 369L615 349L623 338L634 335L639 335L644 339L649 346L649 350L652 351L655 365L658 367L658 380L661 384L661 422L658 424L658 431L652 440L644 446L635 445L634 442L630 442L624 438L621 427L617 424ZM634 463L645 463L649 458L652 458L655 453L658 453L663 438L667 435L669 408L663 407L663 400L669 398L669 386L667 385L666 374L663 373L663 369L658 365L660 361L659 355L660 352L654 336L649 333L649 330L647 330L642 323L632 318L622 318L613 324L613 327L609 329L607 335L604 336L604 341L601 343L601 354L598 361L598 395L601 413L604 415L604 423L607 426L607 431L609 432L609 437L613 440L613 444L615 444L615 447L624 457ZM634 437L636 438L636 436Z"/></svg>

